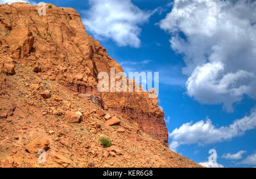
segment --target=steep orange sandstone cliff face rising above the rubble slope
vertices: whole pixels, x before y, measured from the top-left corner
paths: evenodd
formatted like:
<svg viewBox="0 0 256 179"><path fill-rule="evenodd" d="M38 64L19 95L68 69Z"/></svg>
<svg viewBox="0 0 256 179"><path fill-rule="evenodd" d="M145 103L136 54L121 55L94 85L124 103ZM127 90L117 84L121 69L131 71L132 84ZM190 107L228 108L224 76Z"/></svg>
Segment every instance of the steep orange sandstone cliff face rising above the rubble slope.
<svg viewBox="0 0 256 179"><path fill-rule="evenodd" d="M0 67L19 64L40 71L43 79L59 82L69 89L92 94L101 108L138 122L141 130L168 145L164 113L157 99L147 92L104 92L97 90L97 75L122 72L100 42L88 36L80 15L72 8L51 5L46 16L39 6L27 3L0 5Z"/></svg>

